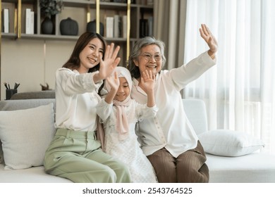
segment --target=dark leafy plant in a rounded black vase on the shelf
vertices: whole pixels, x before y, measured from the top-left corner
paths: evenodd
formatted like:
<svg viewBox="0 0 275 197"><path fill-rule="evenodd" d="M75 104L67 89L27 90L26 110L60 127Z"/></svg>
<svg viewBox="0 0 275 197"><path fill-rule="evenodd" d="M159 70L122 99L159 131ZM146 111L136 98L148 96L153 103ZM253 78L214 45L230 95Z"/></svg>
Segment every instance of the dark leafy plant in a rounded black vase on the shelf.
<svg viewBox="0 0 275 197"><path fill-rule="evenodd" d="M51 16L61 13L63 8L62 0L39 0L41 13L45 16L41 24L42 34L52 34L54 32L54 23Z"/></svg>

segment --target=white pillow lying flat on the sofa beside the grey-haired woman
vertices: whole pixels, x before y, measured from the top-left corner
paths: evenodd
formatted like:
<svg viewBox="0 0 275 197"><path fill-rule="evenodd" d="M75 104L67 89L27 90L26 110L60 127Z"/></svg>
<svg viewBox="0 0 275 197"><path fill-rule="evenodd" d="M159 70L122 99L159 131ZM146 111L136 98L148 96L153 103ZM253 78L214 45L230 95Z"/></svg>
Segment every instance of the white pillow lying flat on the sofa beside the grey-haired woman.
<svg viewBox="0 0 275 197"><path fill-rule="evenodd" d="M212 155L236 157L264 147L262 140L245 132L217 129L198 135L204 151Z"/></svg>

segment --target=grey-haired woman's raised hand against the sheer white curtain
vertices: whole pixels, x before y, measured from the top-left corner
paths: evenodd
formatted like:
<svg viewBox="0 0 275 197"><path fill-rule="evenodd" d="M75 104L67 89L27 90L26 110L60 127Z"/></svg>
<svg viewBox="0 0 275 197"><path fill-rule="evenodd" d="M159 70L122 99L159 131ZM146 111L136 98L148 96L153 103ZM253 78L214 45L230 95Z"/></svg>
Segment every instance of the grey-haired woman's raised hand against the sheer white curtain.
<svg viewBox="0 0 275 197"><path fill-rule="evenodd" d="M218 42L216 42L216 38L212 32L210 32L207 25L202 24L202 27L200 28L200 36L205 40L205 42L207 42L209 51L212 52L212 54L218 51Z"/></svg>

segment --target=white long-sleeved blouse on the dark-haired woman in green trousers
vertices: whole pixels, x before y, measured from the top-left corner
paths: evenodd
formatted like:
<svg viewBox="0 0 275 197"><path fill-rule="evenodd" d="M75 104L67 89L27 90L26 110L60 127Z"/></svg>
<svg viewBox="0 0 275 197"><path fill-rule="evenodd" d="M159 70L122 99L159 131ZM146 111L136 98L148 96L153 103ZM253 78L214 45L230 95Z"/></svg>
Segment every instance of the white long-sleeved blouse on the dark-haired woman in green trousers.
<svg viewBox="0 0 275 197"><path fill-rule="evenodd" d="M98 71L97 71L98 72ZM80 74L77 70L59 68L56 71L56 123L55 126L79 131L97 129L97 103L100 97L95 84L97 72Z"/></svg>

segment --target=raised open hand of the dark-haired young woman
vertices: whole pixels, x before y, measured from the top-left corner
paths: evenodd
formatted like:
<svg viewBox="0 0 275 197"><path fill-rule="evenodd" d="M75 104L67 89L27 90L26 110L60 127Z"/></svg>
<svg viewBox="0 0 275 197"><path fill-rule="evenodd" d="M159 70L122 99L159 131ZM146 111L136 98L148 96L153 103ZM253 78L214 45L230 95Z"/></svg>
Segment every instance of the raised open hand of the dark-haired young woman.
<svg viewBox="0 0 275 197"><path fill-rule="evenodd" d="M114 43L106 47L106 52L104 54L104 60L100 58L100 68L99 68L99 80L104 80L106 77L109 77L111 73L114 72L114 69L121 61L121 58L117 57L120 47L116 46L114 50Z"/></svg>

